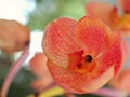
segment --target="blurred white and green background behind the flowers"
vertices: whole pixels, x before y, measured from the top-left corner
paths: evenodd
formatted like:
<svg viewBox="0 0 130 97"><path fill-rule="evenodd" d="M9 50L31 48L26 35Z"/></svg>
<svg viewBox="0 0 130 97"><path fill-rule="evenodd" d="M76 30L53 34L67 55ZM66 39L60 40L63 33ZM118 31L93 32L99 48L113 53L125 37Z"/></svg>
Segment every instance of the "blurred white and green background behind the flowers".
<svg viewBox="0 0 130 97"><path fill-rule="evenodd" d="M78 20L86 14L84 5L89 0L0 0L0 18L18 20L31 30L31 54L29 56L31 58L35 52L42 51L40 41L46 25L61 16ZM113 2L116 4L116 0L106 0L106 2ZM0 87L10 66L18 56L18 53L8 55L0 51ZM22 70L13 80L8 97L27 97L27 95L36 93L30 86L35 75L30 72L27 66L28 60L23 65ZM58 95L55 97L64 96ZM101 96L77 95L77 97Z"/></svg>

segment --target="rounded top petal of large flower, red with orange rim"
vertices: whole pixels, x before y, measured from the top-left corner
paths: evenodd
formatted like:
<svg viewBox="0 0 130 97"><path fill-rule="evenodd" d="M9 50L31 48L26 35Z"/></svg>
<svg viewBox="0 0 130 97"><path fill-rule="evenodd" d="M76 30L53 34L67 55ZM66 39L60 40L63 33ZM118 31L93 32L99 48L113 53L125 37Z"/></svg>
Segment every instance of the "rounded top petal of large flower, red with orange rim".
<svg viewBox="0 0 130 97"><path fill-rule="evenodd" d="M112 31L100 19L84 16L77 24L76 36L86 52L95 57L109 46Z"/></svg>

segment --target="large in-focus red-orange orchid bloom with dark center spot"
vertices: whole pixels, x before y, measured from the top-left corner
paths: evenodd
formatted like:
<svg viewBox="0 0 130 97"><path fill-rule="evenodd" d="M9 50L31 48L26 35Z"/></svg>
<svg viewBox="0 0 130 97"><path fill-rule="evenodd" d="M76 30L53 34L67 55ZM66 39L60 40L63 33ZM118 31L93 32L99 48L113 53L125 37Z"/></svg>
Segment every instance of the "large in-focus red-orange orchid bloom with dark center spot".
<svg viewBox="0 0 130 97"><path fill-rule="evenodd" d="M56 84L67 92L94 92L120 70L120 36L100 19L61 17L44 32L42 47L49 58L48 68Z"/></svg>

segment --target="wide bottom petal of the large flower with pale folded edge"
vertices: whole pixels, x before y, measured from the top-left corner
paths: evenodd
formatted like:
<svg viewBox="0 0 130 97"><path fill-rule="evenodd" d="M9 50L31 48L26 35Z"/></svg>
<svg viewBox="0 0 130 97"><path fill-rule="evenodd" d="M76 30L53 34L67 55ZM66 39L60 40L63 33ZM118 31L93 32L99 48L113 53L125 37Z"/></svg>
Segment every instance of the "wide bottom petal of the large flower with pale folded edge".
<svg viewBox="0 0 130 97"><path fill-rule="evenodd" d="M70 69L62 68L48 61L50 72L57 85L68 93L90 93L102 87L114 75L114 67L108 68L103 74L78 73ZM96 73L95 73L96 74Z"/></svg>

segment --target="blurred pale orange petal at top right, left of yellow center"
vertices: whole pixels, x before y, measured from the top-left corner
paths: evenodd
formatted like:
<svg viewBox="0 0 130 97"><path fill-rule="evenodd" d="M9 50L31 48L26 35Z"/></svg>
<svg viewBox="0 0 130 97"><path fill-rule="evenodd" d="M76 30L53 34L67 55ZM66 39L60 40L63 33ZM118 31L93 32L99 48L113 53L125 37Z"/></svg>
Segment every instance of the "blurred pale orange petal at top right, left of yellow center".
<svg viewBox="0 0 130 97"><path fill-rule="evenodd" d="M116 9L116 6L103 2L88 2L86 5L87 14L102 19L107 25L112 24L112 17L109 15L114 9Z"/></svg>

